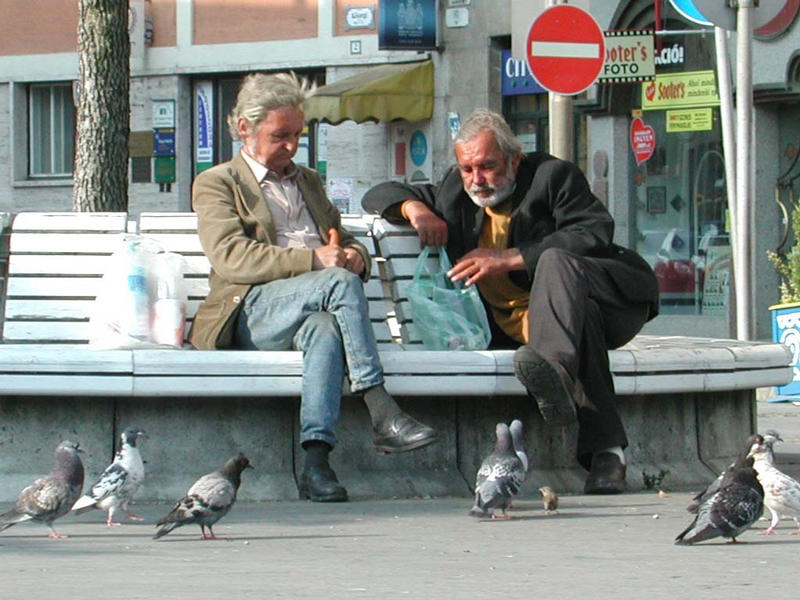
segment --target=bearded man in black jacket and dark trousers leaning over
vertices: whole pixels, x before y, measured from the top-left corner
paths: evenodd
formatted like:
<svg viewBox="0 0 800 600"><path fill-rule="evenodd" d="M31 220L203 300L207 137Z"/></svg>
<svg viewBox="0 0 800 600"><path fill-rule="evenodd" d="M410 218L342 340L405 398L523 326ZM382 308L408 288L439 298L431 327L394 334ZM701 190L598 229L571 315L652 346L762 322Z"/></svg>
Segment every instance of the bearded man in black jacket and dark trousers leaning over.
<svg viewBox="0 0 800 600"><path fill-rule="evenodd" d="M613 243L614 221L578 167L525 155L502 115L473 112L454 151L439 185L382 183L362 204L409 222L422 244L447 247L449 277L478 286L491 345L517 348L515 374L544 420L577 420L584 491L622 492L628 440L608 349L658 313L655 275Z"/></svg>

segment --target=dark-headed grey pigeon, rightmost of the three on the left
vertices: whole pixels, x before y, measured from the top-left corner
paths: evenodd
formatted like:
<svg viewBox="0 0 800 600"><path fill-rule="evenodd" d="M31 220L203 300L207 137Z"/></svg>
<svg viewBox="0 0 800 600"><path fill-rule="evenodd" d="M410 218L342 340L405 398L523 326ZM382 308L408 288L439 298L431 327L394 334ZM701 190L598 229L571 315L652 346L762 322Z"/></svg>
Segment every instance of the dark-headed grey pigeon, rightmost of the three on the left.
<svg viewBox="0 0 800 600"><path fill-rule="evenodd" d="M198 479L172 510L156 521L161 528L154 540L167 535L181 525L197 523L204 540L216 540L212 526L224 517L236 502L236 492L242 483L242 471L252 469L241 452L228 460L223 467ZM206 535L208 527L209 535Z"/></svg>

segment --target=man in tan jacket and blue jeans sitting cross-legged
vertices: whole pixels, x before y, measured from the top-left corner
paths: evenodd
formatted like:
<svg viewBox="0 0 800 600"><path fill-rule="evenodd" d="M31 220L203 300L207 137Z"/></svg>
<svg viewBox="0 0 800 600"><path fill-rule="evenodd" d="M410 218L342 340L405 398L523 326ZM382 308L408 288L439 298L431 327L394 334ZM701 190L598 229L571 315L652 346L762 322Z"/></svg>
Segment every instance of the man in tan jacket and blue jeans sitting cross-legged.
<svg viewBox="0 0 800 600"><path fill-rule="evenodd" d="M301 498L347 499L328 463L336 443L345 367L363 394L379 452L426 446L436 432L384 388L364 296L370 258L341 225L319 175L292 158L313 88L294 74L245 78L228 117L241 151L203 171L192 188L210 291L190 341L200 349L300 350Z"/></svg>

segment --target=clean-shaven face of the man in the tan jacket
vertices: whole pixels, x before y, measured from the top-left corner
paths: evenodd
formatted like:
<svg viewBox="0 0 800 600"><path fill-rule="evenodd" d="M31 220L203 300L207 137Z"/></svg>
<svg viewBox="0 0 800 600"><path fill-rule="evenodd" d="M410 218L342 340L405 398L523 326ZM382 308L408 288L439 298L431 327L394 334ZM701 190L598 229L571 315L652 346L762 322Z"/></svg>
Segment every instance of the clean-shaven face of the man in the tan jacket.
<svg viewBox="0 0 800 600"><path fill-rule="evenodd" d="M297 152L304 124L302 110L282 106L269 111L252 131L248 132L244 119L239 119L238 128L245 152L262 165L283 174Z"/></svg>

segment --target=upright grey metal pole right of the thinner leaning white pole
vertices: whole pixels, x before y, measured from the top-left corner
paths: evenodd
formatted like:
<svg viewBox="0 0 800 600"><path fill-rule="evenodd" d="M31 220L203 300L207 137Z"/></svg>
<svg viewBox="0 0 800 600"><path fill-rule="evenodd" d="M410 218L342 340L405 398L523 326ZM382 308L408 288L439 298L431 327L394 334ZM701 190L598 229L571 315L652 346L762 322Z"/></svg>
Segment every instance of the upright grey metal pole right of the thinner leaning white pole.
<svg viewBox="0 0 800 600"><path fill-rule="evenodd" d="M752 330L752 133L753 133L753 0L739 0L736 12L736 202L738 261L736 337L750 340ZM738 263L738 264L737 264Z"/></svg>

